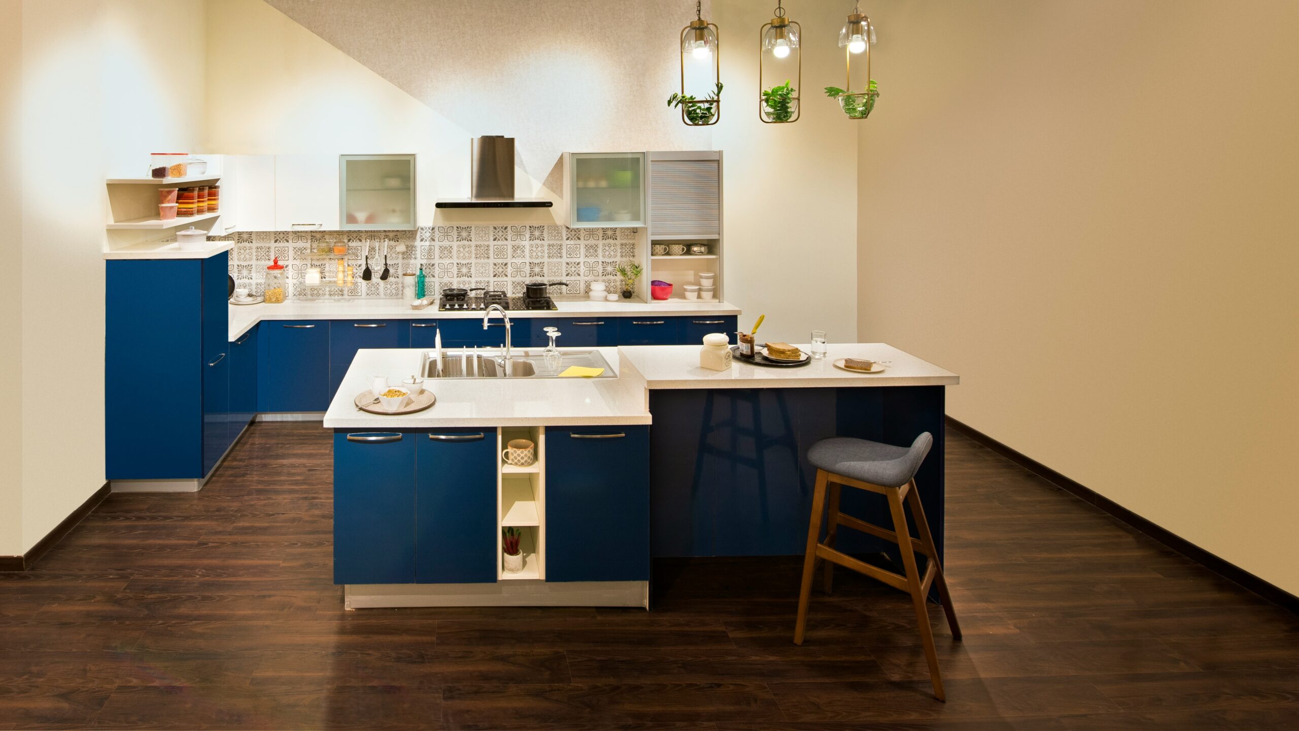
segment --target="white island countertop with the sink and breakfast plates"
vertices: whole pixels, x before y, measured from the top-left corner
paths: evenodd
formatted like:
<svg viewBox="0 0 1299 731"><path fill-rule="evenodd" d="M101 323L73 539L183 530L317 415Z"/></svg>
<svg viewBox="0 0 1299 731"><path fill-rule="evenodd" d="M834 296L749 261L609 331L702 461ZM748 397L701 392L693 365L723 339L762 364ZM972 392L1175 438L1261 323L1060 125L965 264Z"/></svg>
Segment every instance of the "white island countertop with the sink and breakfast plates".
<svg viewBox="0 0 1299 731"><path fill-rule="evenodd" d="M438 403L410 415L360 412L353 399L370 390L374 375L387 375L396 382L417 373L425 351L359 351L325 413L325 427L637 425L651 423L648 392L655 388L843 388L960 383L955 373L885 343L831 343L825 360L801 367L777 369L735 362L726 371L699 367L698 345L595 349L617 371L617 378L431 379L426 384ZM885 361L885 371L859 374L831 365L835 358L843 357Z"/></svg>

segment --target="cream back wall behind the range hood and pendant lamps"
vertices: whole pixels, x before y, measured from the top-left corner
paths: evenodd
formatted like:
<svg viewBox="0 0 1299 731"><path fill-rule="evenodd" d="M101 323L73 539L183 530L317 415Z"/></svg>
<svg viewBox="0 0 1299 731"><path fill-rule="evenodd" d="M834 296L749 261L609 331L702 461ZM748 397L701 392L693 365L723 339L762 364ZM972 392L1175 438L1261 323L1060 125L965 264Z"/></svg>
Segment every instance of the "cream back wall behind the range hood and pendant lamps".
<svg viewBox="0 0 1299 731"><path fill-rule="evenodd" d="M726 106L718 125L696 130L664 104L679 83L677 39L692 3L564 0L523 14L504 13L499 1L378 6L208 3L205 147L416 152L421 209L468 195L469 142L482 134L517 138L539 195L551 195L543 184L561 192L555 166L565 151L722 149L726 299L768 313L772 338L805 341L813 327L855 338L856 127L816 93L838 79L834 42L847 10L795 14L808 29L830 29L804 56L812 110L795 125L763 125L753 66L770 8L714 0ZM430 21L435 8L447 13L442 26ZM496 43L501 27L530 35ZM553 222L549 213L496 216ZM433 222L451 219L439 212L421 221Z"/></svg>

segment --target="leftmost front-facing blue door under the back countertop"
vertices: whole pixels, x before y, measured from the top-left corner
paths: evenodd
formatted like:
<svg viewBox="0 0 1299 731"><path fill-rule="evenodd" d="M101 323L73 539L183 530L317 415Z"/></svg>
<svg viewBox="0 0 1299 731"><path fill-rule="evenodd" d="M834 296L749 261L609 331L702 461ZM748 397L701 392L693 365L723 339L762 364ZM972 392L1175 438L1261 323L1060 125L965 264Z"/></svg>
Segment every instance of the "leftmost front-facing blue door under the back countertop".
<svg viewBox="0 0 1299 731"><path fill-rule="evenodd" d="M268 321L257 340L259 410L329 409L329 321Z"/></svg>

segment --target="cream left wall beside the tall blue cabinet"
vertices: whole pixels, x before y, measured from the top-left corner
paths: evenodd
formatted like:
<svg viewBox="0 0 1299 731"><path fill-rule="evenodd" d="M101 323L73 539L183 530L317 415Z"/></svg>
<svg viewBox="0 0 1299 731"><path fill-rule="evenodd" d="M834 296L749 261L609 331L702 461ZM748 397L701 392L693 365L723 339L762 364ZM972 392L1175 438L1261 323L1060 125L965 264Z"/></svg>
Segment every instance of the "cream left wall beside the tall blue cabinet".
<svg viewBox="0 0 1299 731"><path fill-rule="evenodd" d="M22 306L21 548L0 553L30 549L104 484L104 179L192 147L203 126L200 3L25 0L21 29L19 271L48 286ZM69 383L75 418L44 393Z"/></svg>

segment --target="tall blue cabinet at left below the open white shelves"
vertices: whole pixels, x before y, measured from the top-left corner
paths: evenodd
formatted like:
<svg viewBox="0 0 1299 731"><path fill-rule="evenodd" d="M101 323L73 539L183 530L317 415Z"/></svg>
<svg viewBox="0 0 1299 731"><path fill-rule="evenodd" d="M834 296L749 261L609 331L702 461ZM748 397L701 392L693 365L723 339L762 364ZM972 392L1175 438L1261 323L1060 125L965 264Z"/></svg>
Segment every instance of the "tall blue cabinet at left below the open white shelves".
<svg viewBox="0 0 1299 731"><path fill-rule="evenodd" d="M226 269L225 252L107 262L108 479L201 479L234 440Z"/></svg>

